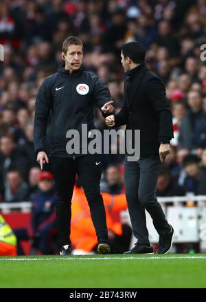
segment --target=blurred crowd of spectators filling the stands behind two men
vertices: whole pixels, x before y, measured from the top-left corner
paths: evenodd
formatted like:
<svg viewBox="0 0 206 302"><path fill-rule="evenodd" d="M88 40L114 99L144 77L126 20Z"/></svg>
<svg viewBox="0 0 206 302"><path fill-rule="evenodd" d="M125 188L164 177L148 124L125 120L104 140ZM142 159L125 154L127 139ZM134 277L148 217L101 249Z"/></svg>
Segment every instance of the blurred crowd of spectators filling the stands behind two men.
<svg viewBox="0 0 206 302"><path fill-rule="evenodd" d="M174 123L157 195L206 194L206 0L1 0L0 202L43 199L46 218L52 215L52 175L42 176L33 150L34 109L69 35L82 40L84 68L108 85L116 111L124 100L122 43L144 44L148 67L165 83ZM99 110L95 124L106 128ZM122 154L102 155L101 190L124 199L123 161Z"/></svg>

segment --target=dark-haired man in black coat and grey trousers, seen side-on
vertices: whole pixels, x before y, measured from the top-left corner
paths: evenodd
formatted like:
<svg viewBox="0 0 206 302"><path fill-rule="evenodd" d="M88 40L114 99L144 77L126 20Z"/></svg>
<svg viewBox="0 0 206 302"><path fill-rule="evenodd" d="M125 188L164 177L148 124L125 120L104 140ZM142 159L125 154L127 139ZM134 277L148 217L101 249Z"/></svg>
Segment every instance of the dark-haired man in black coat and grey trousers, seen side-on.
<svg viewBox="0 0 206 302"><path fill-rule="evenodd" d="M159 233L157 253L165 254L172 247L174 230L165 219L155 190L161 162L170 153L170 139L173 137L170 105L163 82L148 70L144 62L145 49L141 43L124 44L121 57L127 74L124 105L120 112L106 117L106 124L110 127L126 124L126 130L140 130L139 160L129 161L126 155L125 163L126 199L137 238L135 247L126 253L153 253L146 228L146 209ZM134 137L132 140L134 145Z"/></svg>

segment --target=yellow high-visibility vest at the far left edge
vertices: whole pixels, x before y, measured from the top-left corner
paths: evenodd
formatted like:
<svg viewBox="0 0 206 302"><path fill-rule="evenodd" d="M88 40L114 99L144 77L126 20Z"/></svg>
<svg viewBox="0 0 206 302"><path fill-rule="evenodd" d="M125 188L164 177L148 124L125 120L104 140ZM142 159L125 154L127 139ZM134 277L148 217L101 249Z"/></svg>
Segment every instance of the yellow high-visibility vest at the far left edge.
<svg viewBox="0 0 206 302"><path fill-rule="evenodd" d="M14 232L0 215L0 243L1 242L16 246L16 236Z"/></svg>

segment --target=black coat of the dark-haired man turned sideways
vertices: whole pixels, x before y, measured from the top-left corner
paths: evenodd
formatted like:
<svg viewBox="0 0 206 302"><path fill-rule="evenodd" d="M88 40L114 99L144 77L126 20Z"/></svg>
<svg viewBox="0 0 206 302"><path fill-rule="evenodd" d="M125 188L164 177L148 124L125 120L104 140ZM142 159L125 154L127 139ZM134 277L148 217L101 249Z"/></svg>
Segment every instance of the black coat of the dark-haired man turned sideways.
<svg viewBox="0 0 206 302"><path fill-rule="evenodd" d="M124 94L122 110L115 114L115 127L126 125L126 130L140 130L141 157L159 154L160 143L170 143L173 137L163 81L141 63L127 73Z"/></svg>

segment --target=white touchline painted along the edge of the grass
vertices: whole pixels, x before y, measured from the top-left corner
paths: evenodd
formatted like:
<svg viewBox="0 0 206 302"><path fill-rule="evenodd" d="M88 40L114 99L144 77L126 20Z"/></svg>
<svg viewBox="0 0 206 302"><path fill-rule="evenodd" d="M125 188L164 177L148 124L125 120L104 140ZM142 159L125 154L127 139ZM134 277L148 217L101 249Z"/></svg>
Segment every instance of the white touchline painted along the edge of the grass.
<svg viewBox="0 0 206 302"><path fill-rule="evenodd" d="M82 257L76 258L75 256L65 256L65 257L57 257L57 258L0 258L0 261L50 261L50 260L171 260L171 259L206 259L206 256L150 256L150 257Z"/></svg>

